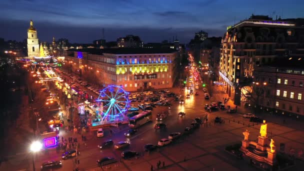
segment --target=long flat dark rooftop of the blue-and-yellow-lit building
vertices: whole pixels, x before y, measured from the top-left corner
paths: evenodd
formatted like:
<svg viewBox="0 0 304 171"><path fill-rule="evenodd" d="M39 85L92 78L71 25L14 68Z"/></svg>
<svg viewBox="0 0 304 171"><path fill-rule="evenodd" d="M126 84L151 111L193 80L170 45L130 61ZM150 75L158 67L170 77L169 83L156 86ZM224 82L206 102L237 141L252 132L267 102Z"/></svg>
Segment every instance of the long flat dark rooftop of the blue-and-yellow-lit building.
<svg viewBox="0 0 304 171"><path fill-rule="evenodd" d="M154 53L173 53L176 50L166 48L84 48L84 49L68 49L68 51L82 51L90 54L154 54Z"/></svg>

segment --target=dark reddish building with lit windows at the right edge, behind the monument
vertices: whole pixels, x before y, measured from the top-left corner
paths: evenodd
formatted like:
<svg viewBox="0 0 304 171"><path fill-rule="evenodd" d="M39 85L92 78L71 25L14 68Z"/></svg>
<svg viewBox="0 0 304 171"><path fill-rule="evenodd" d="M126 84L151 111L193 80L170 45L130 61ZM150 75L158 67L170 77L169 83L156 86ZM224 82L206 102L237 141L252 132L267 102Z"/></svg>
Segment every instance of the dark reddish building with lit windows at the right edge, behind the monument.
<svg viewBox="0 0 304 171"><path fill-rule="evenodd" d="M290 57L254 69L263 88L258 105L273 113L304 115L304 58ZM264 84L261 84L265 82Z"/></svg>

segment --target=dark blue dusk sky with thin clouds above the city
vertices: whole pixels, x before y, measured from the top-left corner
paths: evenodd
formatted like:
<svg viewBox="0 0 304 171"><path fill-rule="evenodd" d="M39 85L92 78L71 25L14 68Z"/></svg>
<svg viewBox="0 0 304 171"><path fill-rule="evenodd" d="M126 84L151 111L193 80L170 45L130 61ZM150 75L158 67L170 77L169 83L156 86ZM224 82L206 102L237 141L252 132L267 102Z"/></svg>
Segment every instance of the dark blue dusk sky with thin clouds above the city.
<svg viewBox="0 0 304 171"><path fill-rule="evenodd" d="M144 42L177 35L188 42L203 29L222 36L227 25L254 14L304 17L304 0L1 0L0 37L26 38L32 19L41 41L64 37L70 42L107 41L126 34Z"/></svg>

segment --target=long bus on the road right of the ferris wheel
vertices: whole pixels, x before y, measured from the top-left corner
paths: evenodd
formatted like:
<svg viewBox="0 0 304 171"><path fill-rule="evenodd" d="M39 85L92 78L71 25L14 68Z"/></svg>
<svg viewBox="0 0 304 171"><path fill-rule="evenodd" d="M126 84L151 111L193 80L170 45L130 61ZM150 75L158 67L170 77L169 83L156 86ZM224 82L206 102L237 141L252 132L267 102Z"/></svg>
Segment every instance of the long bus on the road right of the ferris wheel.
<svg viewBox="0 0 304 171"><path fill-rule="evenodd" d="M129 127L138 127L152 119L151 110L145 110L129 119Z"/></svg>

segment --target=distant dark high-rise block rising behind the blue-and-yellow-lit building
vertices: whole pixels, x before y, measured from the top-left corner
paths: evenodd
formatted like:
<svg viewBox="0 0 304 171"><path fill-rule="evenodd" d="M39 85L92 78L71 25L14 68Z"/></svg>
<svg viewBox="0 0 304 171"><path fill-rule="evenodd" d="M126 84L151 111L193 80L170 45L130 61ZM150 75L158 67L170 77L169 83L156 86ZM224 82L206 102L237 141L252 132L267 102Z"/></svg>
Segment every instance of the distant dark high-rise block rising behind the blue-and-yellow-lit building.
<svg viewBox="0 0 304 171"><path fill-rule="evenodd" d="M118 47L142 47L143 42L140 40L139 36L127 35L125 37L117 38Z"/></svg>

